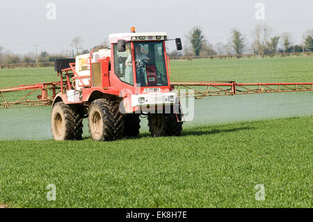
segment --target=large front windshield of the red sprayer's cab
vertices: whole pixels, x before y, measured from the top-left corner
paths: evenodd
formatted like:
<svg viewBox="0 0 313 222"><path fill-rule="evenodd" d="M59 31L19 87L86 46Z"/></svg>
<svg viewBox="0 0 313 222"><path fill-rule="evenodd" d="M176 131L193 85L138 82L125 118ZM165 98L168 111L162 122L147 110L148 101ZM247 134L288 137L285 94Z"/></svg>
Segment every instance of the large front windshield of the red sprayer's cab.
<svg viewBox="0 0 313 222"><path fill-rule="evenodd" d="M134 42L136 79L141 86L167 86L163 42Z"/></svg>

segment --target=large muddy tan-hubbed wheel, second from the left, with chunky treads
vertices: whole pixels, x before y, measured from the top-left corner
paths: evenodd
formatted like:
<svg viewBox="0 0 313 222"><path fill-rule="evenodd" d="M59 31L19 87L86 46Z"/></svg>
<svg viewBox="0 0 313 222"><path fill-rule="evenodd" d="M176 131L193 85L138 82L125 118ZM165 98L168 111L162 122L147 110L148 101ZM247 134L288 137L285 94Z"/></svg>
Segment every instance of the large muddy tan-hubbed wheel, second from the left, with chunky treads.
<svg viewBox="0 0 313 222"><path fill-rule="evenodd" d="M122 137L124 121L115 100L94 100L88 111L88 127L94 141L114 141Z"/></svg>

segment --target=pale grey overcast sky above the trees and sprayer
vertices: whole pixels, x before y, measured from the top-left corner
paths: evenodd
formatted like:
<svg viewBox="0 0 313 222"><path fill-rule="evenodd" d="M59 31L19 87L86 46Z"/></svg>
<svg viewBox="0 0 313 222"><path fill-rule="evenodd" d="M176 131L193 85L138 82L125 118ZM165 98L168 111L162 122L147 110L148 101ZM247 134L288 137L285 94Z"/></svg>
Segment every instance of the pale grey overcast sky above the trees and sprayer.
<svg viewBox="0 0 313 222"><path fill-rule="evenodd" d="M201 26L212 44L226 43L232 28L249 40L256 24L266 22L280 35L289 31L300 44L301 35L313 29L312 0L0 0L0 45L24 54L72 50L79 35L83 49L104 42L110 33L166 31L168 38L181 37ZM56 19L47 19L47 4L56 4ZM257 20L257 3L265 6L265 19ZM184 47L184 45L183 45Z"/></svg>

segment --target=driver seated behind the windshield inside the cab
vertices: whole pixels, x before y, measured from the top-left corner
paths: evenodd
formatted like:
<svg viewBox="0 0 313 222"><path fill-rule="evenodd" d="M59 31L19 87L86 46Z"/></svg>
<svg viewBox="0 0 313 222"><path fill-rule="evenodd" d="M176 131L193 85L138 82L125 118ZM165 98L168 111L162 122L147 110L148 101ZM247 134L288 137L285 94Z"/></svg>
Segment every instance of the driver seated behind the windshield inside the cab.
<svg viewBox="0 0 313 222"><path fill-rule="evenodd" d="M139 62L144 63L150 60L146 54L143 53L141 50L141 45L135 45L135 57L136 57L136 77L137 77L137 84L141 84L143 86L147 85L147 74L145 71L145 67L140 67ZM147 61L144 61L147 60Z"/></svg>

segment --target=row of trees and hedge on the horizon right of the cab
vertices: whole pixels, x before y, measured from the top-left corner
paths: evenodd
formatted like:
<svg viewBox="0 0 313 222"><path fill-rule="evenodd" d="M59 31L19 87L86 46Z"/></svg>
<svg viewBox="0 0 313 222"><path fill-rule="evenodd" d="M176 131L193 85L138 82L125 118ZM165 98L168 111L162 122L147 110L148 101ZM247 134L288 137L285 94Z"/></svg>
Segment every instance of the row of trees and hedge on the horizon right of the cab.
<svg viewBox="0 0 313 222"><path fill-rule="evenodd" d="M313 51L313 29L303 34L303 42L296 45L291 33L284 32L281 35L273 35L274 29L267 24L257 24L251 33L252 42L239 31L232 29L230 38L226 44L218 42L212 45L203 34L199 26L193 27L186 35L184 51L172 51L170 56L240 56L242 54L254 54L266 56L276 53L291 53ZM280 45L279 45L280 43Z"/></svg>

